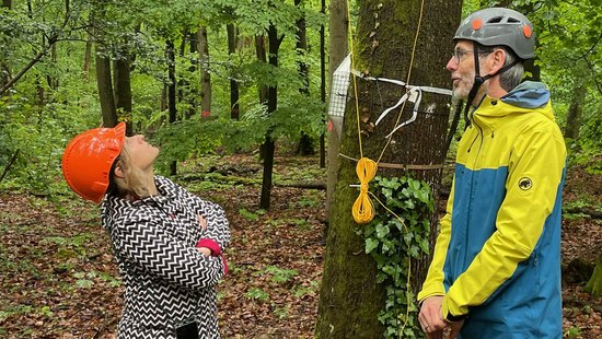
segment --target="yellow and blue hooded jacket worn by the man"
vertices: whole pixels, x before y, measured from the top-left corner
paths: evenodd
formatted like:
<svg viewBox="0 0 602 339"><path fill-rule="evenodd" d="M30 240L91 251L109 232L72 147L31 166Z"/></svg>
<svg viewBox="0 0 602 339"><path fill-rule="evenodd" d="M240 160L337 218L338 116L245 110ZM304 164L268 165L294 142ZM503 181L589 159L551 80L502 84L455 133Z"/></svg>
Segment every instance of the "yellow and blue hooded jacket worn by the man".
<svg viewBox="0 0 602 339"><path fill-rule="evenodd" d="M462 338L562 338L566 148L549 92L525 82L471 120L418 300L444 295Z"/></svg>

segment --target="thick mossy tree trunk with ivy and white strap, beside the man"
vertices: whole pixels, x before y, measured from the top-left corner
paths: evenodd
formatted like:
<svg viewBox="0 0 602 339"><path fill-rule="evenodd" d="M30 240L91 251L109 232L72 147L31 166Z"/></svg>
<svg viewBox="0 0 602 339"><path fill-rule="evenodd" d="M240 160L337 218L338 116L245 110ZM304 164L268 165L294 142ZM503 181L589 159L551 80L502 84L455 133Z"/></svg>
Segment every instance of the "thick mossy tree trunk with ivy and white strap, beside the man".
<svg viewBox="0 0 602 339"><path fill-rule="evenodd" d="M409 84L447 89L450 74L443 66L452 46L452 37L461 14L460 0L431 0L425 2L424 16L419 27L414 65L409 68L413 42L420 17L419 0L360 2L358 28L355 34L356 56L352 67L371 77L382 77L406 82L412 71ZM377 19L377 20L375 20ZM441 48L449 42L450 50ZM333 65L335 67L336 65ZM362 136L362 152L358 141L358 121L355 104L346 110L340 152L359 159L361 154L377 161L380 157L378 175L401 176L407 172L389 168L390 165L429 165L437 168L444 162L445 135L450 102L449 96L422 93L420 114L416 121L393 135L385 149L385 136L395 126L396 114L390 114L375 128L372 125L381 112L392 106L401 96L402 89L385 83L356 79L360 109L359 128ZM351 86L354 80L351 79ZM352 89L350 89L352 91ZM355 92L351 92L355 93ZM355 96L355 95L354 95ZM403 112L402 121L412 115L412 106ZM398 112L398 109L396 110ZM428 112L428 114L425 114ZM381 156L382 153L382 156ZM437 197L440 184L440 170L412 172L417 179L431 185ZM341 160L338 182L332 202L331 222L326 239L324 273L320 293L319 318L315 329L317 338L378 338L383 326L377 318L383 308L385 291L377 284L377 267L373 259L364 254L364 243L356 234L359 230L351 217L351 206L358 196L356 163ZM374 201L374 203L378 203ZM431 245L435 243L437 222L431 220ZM414 293L421 285L429 258L412 262L412 289ZM415 294L414 294L415 295ZM412 301L409 301L412 302Z"/></svg>

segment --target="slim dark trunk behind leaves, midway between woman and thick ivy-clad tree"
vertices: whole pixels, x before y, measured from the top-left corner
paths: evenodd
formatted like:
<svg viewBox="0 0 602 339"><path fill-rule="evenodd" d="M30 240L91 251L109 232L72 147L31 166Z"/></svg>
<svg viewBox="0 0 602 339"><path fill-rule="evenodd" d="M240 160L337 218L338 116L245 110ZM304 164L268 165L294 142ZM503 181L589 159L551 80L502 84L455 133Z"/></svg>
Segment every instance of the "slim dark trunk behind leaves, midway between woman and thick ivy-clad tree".
<svg viewBox="0 0 602 339"><path fill-rule="evenodd" d="M278 31L274 24L268 28L268 46L269 46L269 65L274 68L278 67L278 49L282 37L278 36ZM270 115L278 107L278 85L270 85L267 87L267 114ZM263 147L264 150L264 174L262 182L262 198L259 200L259 207L263 209L269 209L270 196L271 196L271 173L274 170L274 151L275 142L271 139L271 128L267 131Z"/></svg>

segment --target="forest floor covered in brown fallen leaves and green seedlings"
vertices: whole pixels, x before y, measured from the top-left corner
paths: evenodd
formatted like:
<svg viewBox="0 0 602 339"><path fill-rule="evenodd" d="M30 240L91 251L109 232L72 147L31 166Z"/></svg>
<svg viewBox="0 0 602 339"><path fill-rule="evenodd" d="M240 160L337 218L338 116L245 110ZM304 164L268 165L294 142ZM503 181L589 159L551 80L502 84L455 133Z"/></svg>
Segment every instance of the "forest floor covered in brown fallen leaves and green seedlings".
<svg viewBox="0 0 602 339"><path fill-rule="evenodd" d="M218 289L222 337L311 338L325 246L325 191L279 184L323 182L317 159L276 157L268 211L257 208L261 185L223 180L223 175L259 179L262 165L254 155L200 159L182 171L187 175L177 182L220 203L230 220L230 273ZM570 168L565 203L600 211L601 189L602 176ZM601 225L584 214L564 218L563 264L574 271L563 287L566 338L602 337L602 299L584 293L587 278L579 278L602 250ZM97 207L74 196L0 191L0 338L115 338L121 293Z"/></svg>

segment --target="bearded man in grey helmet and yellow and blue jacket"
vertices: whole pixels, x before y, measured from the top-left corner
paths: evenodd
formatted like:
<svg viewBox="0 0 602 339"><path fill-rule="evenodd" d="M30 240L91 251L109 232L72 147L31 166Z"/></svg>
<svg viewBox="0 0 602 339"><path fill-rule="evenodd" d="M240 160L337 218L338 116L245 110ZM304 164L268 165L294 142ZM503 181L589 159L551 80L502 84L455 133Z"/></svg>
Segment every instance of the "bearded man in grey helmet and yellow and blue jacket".
<svg viewBox="0 0 602 339"><path fill-rule="evenodd" d="M452 192L418 316L428 338L562 338L566 149L541 83L520 83L533 25L501 8L466 17L447 69L467 98Z"/></svg>

